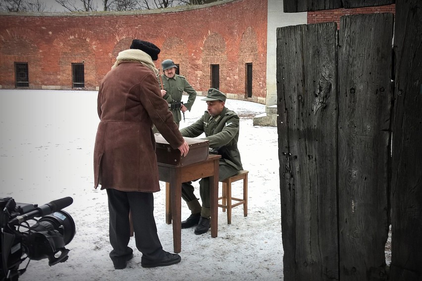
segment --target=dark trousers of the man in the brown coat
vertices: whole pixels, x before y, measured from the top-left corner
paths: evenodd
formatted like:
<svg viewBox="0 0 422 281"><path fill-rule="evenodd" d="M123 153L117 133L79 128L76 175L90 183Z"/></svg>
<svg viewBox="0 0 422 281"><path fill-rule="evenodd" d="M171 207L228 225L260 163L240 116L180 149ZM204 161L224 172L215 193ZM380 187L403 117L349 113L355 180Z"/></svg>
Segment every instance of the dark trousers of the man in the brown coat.
<svg viewBox="0 0 422 281"><path fill-rule="evenodd" d="M126 192L108 188L109 236L113 261L132 253L129 210L132 212L136 247L142 252L142 260L160 260L163 249L154 219L154 195L147 192Z"/></svg>

